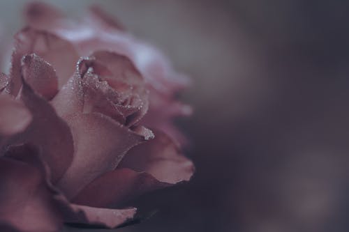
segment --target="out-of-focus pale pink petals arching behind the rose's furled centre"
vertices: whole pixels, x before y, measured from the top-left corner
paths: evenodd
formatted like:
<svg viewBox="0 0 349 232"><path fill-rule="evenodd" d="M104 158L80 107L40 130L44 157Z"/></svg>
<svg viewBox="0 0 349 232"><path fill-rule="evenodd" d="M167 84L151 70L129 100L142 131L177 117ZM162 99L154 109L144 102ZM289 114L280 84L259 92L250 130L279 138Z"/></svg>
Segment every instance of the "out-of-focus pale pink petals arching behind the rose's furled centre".
<svg viewBox="0 0 349 232"><path fill-rule="evenodd" d="M174 72L168 59L156 48L134 38L96 6L90 8L89 15L80 21L69 20L54 8L42 3L29 5L25 16L31 29L36 32L45 31L45 37L51 38L51 43L54 43L49 48L54 56L50 55L51 52L36 52L54 65L59 80L61 79L60 85L65 84L67 78L75 72L73 61L79 56L89 56L97 50L127 56L140 71L150 90L152 104L142 124L165 130L175 140L185 142L170 118L191 114L190 107L174 100L174 93L188 85L188 78ZM34 34L40 36L38 33Z"/></svg>

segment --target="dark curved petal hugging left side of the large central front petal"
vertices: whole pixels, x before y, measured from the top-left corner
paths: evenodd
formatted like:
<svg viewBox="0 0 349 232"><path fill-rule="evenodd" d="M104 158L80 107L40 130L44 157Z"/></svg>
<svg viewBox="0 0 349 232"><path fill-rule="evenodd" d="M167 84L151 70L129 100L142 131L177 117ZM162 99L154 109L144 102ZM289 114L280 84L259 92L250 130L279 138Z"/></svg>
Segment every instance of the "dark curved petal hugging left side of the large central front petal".
<svg viewBox="0 0 349 232"><path fill-rule="evenodd" d="M38 146L43 160L52 171L52 181L55 182L65 173L73 159L70 128L57 116L52 106L36 95L25 82L20 100L31 112L33 120L27 130L11 137L8 145L29 143Z"/></svg>

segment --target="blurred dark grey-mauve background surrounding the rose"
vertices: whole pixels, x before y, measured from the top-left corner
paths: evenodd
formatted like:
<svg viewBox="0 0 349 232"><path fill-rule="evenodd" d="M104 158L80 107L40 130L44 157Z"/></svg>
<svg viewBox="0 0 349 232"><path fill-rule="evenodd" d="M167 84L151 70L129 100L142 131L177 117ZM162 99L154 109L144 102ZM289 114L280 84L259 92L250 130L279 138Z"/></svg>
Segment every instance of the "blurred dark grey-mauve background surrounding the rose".
<svg viewBox="0 0 349 232"><path fill-rule="evenodd" d="M3 40L25 2L0 1ZM348 1L47 2L98 3L193 79L178 121L193 180L142 196L156 215L115 231L349 231Z"/></svg>

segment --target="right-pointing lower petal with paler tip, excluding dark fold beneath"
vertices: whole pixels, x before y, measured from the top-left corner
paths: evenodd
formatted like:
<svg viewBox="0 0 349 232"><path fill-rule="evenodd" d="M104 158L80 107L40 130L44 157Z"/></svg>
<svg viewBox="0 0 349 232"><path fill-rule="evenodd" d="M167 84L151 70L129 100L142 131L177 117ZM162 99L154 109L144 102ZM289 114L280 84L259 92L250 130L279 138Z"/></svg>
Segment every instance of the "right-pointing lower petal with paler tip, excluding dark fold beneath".
<svg viewBox="0 0 349 232"><path fill-rule="evenodd" d="M132 148L117 168L144 171L170 184L190 180L194 171L193 163L181 154L166 134L160 131L154 131L154 134L155 139Z"/></svg>

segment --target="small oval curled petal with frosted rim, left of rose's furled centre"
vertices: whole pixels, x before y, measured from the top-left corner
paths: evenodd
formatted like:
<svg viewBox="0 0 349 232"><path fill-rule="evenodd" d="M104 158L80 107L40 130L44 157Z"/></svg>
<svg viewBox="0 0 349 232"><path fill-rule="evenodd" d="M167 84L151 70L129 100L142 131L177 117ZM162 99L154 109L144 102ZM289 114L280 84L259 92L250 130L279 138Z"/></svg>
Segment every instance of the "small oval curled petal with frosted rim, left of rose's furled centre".
<svg viewBox="0 0 349 232"><path fill-rule="evenodd" d="M36 54L24 56L22 59L22 75L31 88L47 100L57 93L58 82L54 69Z"/></svg>

